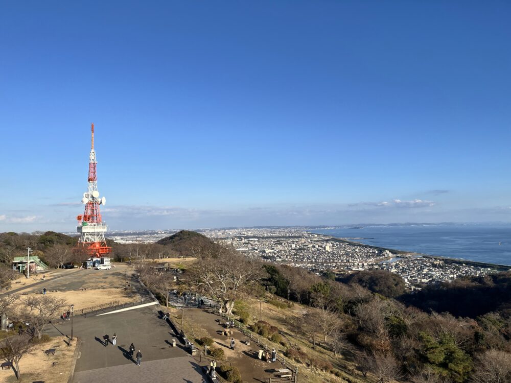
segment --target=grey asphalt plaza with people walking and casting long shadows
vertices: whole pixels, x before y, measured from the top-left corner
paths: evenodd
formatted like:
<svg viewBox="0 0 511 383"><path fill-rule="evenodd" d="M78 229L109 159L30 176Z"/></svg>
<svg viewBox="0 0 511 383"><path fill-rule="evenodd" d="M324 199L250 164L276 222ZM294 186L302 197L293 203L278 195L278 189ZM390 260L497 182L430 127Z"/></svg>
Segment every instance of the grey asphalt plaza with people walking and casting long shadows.
<svg viewBox="0 0 511 383"><path fill-rule="evenodd" d="M71 335L71 321L54 323L46 332L65 339ZM111 339L114 332L117 345L105 346L103 336L108 334ZM203 381L200 366L184 346L177 341L177 347L172 347L172 339L177 337L154 306L87 318L76 316L73 336L80 341L73 383ZM142 352L141 366L127 354L131 343Z"/></svg>

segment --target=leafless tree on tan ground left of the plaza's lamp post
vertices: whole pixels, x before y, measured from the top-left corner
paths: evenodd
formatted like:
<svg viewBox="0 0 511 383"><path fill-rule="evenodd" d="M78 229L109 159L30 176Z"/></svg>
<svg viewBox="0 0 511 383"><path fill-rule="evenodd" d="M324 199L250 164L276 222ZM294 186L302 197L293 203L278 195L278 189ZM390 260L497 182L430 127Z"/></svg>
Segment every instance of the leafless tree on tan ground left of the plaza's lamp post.
<svg viewBox="0 0 511 383"><path fill-rule="evenodd" d="M58 318L60 313L68 304L65 299L52 297L49 295L41 295L27 297L24 301L26 311L22 316L34 327L35 334L41 339L44 327L53 319Z"/></svg>

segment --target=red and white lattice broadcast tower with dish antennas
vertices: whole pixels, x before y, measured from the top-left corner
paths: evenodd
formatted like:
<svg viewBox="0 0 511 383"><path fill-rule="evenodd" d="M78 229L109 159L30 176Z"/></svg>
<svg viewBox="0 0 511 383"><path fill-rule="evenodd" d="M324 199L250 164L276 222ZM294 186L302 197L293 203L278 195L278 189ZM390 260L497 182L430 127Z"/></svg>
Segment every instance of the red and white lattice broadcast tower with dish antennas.
<svg viewBox="0 0 511 383"><path fill-rule="evenodd" d="M91 147L89 156L89 178L87 192L83 194L85 204L83 216L78 216L79 225L76 230L80 233L78 249L84 250L91 257L104 257L112 251L106 245L105 232L107 226L101 221L99 205L105 205L105 197L100 198L98 192L98 175L96 173L96 152L94 151L94 124L91 126Z"/></svg>

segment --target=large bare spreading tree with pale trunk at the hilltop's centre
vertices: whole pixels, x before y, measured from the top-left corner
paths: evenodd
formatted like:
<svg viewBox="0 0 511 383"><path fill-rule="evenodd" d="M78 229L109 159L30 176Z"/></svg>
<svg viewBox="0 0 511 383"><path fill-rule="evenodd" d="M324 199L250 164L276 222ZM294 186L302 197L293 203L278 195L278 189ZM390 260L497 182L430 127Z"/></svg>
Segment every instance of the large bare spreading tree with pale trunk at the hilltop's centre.
<svg viewBox="0 0 511 383"><path fill-rule="evenodd" d="M216 297L231 315L234 302L248 285L263 277L259 261L220 249L215 257L199 259L190 269L190 283L204 294Z"/></svg>

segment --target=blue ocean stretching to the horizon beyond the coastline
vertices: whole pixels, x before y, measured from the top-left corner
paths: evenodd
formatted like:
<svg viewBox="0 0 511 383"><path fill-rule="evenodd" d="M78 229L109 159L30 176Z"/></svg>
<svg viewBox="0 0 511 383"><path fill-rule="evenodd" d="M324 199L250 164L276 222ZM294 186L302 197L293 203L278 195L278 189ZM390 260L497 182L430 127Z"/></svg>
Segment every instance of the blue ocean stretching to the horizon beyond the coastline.
<svg viewBox="0 0 511 383"><path fill-rule="evenodd" d="M311 231L365 245L511 266L511 224L364 226Z"/></svg>

